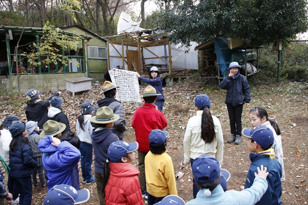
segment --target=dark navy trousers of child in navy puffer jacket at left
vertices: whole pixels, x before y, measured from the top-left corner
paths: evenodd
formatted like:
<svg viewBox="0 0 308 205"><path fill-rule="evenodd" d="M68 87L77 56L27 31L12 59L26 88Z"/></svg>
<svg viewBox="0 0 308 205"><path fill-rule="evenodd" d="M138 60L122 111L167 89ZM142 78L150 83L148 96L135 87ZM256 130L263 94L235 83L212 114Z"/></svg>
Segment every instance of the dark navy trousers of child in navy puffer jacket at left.
<svg viewBox="0 0 308 205"><path fill-rule="evenodd" d="M17 178L12 177L17 190L20 193L20 205L31 205L32 181L31 176Z"/></svg>

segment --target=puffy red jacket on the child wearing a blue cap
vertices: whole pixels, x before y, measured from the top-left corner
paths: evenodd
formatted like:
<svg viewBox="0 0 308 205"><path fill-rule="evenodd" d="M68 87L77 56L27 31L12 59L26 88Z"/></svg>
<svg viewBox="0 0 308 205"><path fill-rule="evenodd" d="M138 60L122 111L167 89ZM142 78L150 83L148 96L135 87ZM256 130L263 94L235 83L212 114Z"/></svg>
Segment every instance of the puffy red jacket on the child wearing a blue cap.
<svg viewBox="0 0 308 205"><path fill-rule="evenodd" d="M130 163L110 163L110 175L105 188L106 205L143 205L140 172Z"/></svg>

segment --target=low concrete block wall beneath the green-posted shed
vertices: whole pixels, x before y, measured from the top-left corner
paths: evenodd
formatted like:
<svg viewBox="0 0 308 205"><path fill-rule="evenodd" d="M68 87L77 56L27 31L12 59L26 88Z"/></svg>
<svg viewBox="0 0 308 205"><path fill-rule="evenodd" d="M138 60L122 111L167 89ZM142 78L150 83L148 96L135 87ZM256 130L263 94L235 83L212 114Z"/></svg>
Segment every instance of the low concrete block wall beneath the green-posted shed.
<svg viewBox="0 0 308 205"><path fill-rule="evenodd" d="M66 89L67 78L87 77L86 73L66 73L64 74L38 74L22 75L20 77L21 94L27 94L28 90L34 88L38 91L57 91ZM12 75L9 78L1 79L0 83L4 84L0 88L8 91L18 91L17 76ZM2 91L2 90L1 90Z"/></svg>

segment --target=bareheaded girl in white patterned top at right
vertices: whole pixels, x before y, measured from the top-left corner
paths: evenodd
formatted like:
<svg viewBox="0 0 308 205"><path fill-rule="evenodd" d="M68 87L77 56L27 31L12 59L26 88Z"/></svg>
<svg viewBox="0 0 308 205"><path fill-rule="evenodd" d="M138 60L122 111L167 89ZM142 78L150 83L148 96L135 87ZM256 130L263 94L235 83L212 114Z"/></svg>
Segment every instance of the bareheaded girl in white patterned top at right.
<svg viewBox="0 0 308 205"><path fill-rule="evenodd" d="M262 125L272 130L274 134L273 149L275 152L275 157L281 165L281 169L282 169L281 181L284 181L285 173L284 173L284 166L283 166L283 151L282 151L280 129L277 123L272 119L268 119L267 112L262 107L255 107L251 109L251 111L249 112L249 120L251 121L251 125L253 127Z"/></svg>

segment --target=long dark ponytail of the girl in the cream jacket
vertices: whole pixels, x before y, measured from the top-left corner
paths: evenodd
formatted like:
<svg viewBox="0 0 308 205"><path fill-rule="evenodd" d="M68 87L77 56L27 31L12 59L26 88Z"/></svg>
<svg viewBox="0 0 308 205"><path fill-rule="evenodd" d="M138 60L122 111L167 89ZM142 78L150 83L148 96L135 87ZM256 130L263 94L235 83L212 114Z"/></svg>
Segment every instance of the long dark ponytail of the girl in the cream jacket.
<svg viewBox="0 0 308 205"><path fill-rule="evenodd" d="M208 108L204 108L201 117L201 138L205 144L210 144L216 139L213 117Z"/></svg>

